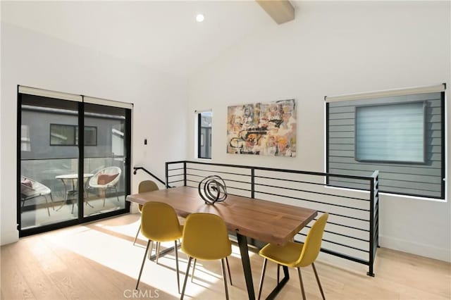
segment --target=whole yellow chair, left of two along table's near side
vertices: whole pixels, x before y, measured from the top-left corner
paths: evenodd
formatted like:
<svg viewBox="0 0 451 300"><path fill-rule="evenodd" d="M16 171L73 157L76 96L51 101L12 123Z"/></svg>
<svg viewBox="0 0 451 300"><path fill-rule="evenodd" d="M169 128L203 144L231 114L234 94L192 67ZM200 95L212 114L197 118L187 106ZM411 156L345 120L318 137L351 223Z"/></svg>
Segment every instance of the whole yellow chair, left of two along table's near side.
<svg viewBox="0 0 451 300"><path fill-rule="evenodd" d="M158 263L158 256L161 242L174 241L175 246L175 265L177 270L177 288L180 293L180 277L178 275L178 247L177 240L183 235L183 226L180 225L175 213L174 208L166 203L162 202L148 202L142 206L141 212L141 233L144 237L149 239L147 241L147 248L144 252L144 258L142 258L142 265L140 275L136 282L136 289L140 285L140 279L142 274L142 268L146 261L147 251L152 253L154 242L156 242L156 263Z"/></svg>

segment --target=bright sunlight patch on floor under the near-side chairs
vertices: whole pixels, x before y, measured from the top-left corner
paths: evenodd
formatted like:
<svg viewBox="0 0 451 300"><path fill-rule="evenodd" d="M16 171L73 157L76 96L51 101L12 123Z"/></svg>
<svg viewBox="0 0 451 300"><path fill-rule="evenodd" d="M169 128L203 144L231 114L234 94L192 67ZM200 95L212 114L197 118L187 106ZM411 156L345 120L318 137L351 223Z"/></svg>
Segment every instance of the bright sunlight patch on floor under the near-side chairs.
<svg viewBox="0 0 451 300"><path fill-rule="evenodd" d="M51 244L73 251L80 256L137 279L147 240L140 235L137 243L133 246L132 241L140 225L140 220L139 218L137 220L136 218L129 219L130 222L126 224L115 224L115 221L111 219L106 220L104 223L70 227L66 230L46 235L44 239L47 239ZM173 246L173 242L162 243L161 249L166 249L170 246ZM39 251L39 248L37 248L37 251ZM252 253L249 253L249 256L252 255ZM187 268L187 256L180 249L178 256L181 290ZM240 250L235 245L233 245L232 256L240 259ZM191 273L192 266L186 287L187 298L195 298L200 293L206 292L206 289L210 289L209 292L218 290L218 292L223 294L221 261L197 261L194 282L191 282ZM158 264L154 261L146 260L140 287L144 288L144 284L175 297L180 296L177 290L175 254L173 251L166 254L166 256L161 256ZM220 289L211 287L216 284L218 284ZM230 282L228 282L228 285L230 286ZM135 286L130 287L130 289L134 288Z"/></svg>

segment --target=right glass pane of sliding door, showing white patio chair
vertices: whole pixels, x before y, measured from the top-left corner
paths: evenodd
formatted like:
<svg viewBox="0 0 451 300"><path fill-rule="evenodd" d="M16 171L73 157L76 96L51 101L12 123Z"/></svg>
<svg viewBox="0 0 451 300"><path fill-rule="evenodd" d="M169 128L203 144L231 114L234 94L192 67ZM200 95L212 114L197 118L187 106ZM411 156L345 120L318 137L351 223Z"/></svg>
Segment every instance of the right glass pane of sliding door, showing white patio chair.
<svg viewBox="0 0 451 300"><path fill-rule="evenodd" d="M125 108L85 104L85 216L125 208L126 119Z"/></svg>

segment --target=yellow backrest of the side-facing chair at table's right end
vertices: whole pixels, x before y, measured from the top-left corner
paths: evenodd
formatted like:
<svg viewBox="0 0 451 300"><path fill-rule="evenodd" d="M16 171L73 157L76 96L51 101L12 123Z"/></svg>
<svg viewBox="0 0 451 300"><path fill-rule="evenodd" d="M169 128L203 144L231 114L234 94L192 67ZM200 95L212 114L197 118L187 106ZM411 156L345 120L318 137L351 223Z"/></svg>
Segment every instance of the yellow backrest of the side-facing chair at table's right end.
<svg viewBox="0 0 451 300"><path fill-rule="evenodd" d="M316 257L318 257L321 250L321 240L323 239L324 227L326 227L328 213L323 213L321 217L311 226L309 233L302 247L299 260L296 262L296 266L305 267L314 263Z"/></svg>

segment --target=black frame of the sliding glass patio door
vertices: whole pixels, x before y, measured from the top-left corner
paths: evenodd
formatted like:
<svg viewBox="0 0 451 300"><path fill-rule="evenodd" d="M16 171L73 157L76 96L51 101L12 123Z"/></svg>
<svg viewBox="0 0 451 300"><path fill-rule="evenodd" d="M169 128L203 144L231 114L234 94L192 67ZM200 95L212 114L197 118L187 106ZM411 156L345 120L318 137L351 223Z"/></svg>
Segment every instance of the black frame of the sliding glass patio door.
<svg viewBox="0 0 451 300"><path fill-rule="evenodd" d="M17 90L17 99L18 99L18 106L17 106L17 167L16 167L16 182L17 182L17 224L18 224L18 232L19 237L26 237L28 235L35 235L42 232L47 232L51 230L57 230L64 227L69 227L73 225L78 225L82 223L88 223L92 222L94 220L100 220L103 218L109 218L114 215L122 215L124 213L130 212L130 202L125 201L125 207L118 209L116 211L109 211L106 213L99 213L96 215L89 215L84 216L84 193L78 192L78 215L77 218L73 218L70 220L62 220L57 223L51 223L48 225L39 225L36 227L29 227L26 229L22 229L22 221L21 221L21 213L20 213L20 207L21 207L21 201L20 201L20 176L21 176L21 125L22 125L22 94L19 92L19 86ZM61 99L61 101L67 101ZM124 160L124 180L125 180L125 195L127 196L130 194L130 186L131 186L131 166L130 166L130 158L131 158L131 124L132 124L132 109L130 108L124 108L125 109L125 160ZM84 140L84 133L85 133L85 127L84 127L84 111L85 111L85 103L83 101L78 102L78 140L83 141ZM84 143L78 142L78 178L83 177L84 173ZM84 180L78 180L78 191L84 190Z"/></svg>

